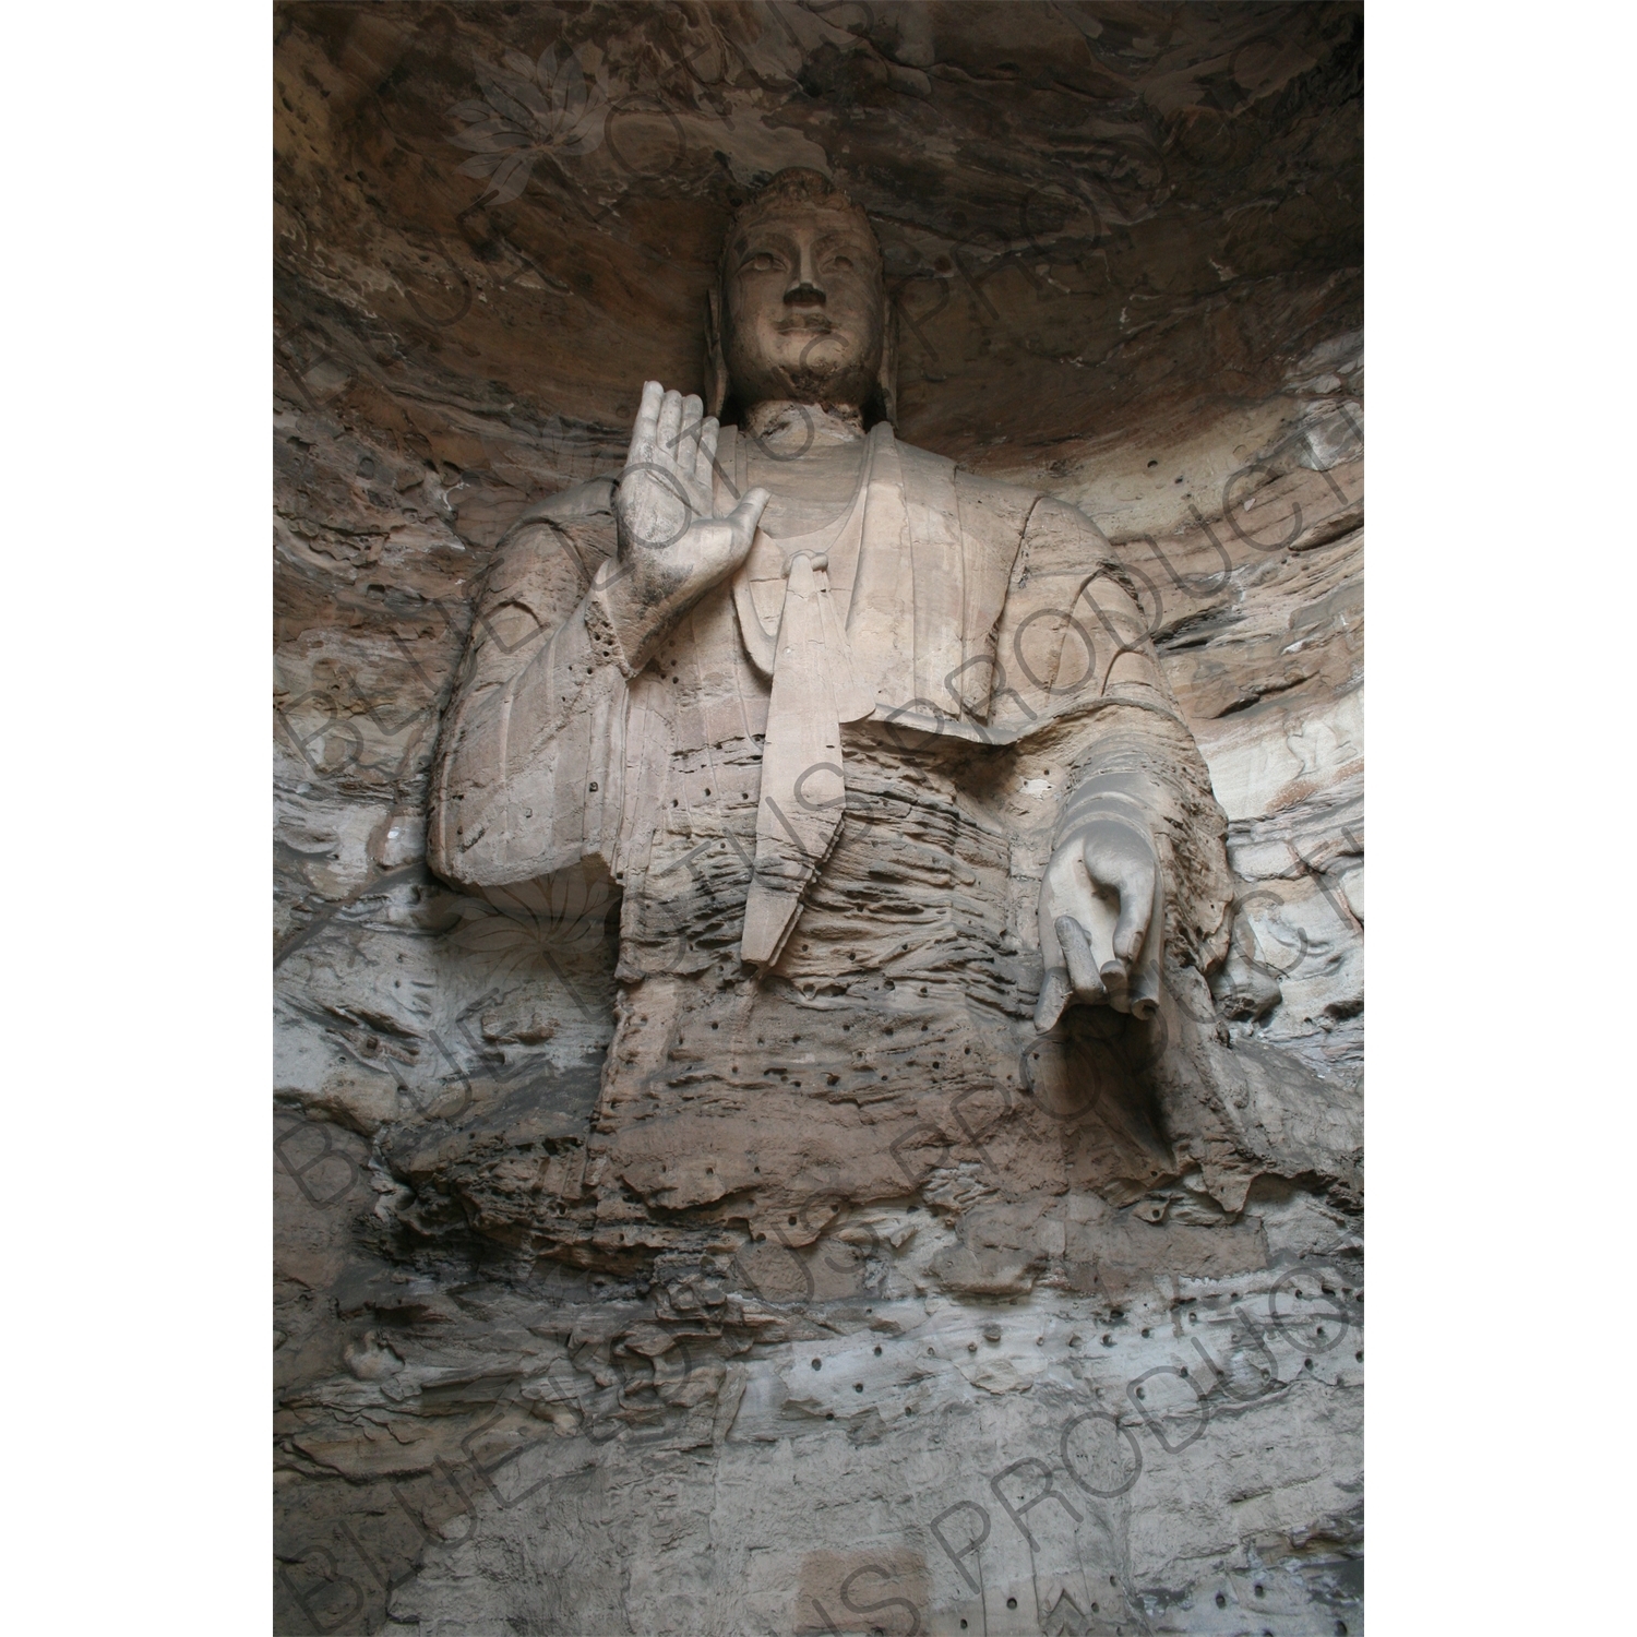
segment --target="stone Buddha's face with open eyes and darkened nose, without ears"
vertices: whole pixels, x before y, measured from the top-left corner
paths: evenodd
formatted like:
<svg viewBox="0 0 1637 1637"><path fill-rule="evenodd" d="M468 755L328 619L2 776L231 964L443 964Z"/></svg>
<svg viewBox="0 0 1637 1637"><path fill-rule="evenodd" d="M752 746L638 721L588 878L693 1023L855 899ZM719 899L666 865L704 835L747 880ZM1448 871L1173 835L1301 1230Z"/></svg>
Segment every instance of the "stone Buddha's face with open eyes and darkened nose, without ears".
<svg viewBox="0 0 1637 1637"><path fill-rule="evenodd" d="M745 404L858 409L881 368L886 290L861 213L769 210L740 228L722 275L722 344Z"/></svg>

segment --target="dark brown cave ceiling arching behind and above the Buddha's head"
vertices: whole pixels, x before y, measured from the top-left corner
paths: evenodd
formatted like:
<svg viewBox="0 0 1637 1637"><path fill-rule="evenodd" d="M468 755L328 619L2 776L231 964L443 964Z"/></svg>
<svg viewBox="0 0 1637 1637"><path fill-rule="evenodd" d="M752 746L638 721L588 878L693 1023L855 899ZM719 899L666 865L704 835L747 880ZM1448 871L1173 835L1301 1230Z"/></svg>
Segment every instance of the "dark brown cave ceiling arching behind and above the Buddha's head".
<svg viewBox="0 0 1637 1637"><path fill-rule="evenodd" d="M1362 321L1355 5L275 10L275 390L460 471L617 458L699 390L735 206L869 211L899 431L1087 458L1272 391ZM589 470L588 467L588 470Z"/></svg>

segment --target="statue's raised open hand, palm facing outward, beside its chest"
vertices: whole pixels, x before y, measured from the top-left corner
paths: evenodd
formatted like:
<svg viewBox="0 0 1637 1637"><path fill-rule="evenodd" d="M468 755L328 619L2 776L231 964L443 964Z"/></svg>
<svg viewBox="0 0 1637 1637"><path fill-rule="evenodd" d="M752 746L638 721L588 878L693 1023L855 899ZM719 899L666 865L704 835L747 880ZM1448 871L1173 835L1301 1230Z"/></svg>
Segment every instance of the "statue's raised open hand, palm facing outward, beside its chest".
<svg viewBox="0 0 1637 1637"><path fill-rule="evenodd" d="M717 509L717 434L692 393L643 385L614 519L622 570L643 604L663 604L673 617L745 561L769 499L766 489L750 489L732 509Z"/></svg>

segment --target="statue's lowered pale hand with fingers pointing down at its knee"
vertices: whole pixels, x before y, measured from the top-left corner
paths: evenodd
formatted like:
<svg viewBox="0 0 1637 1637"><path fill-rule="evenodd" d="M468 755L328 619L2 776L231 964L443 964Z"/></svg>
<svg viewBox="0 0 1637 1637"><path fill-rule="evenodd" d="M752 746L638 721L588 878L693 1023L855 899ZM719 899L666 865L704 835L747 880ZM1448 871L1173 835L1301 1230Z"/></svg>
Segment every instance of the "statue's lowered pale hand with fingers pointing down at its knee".
<svg viewBox="0 0 1637 1637"><path fill-rule="evenodd" d="M1035 1028L1053 1028L1076 1002L1152 1017L1164 935L1164 877L1146 827L1125 815L1077 823L1039 886L1046 972Z"/></svg>

